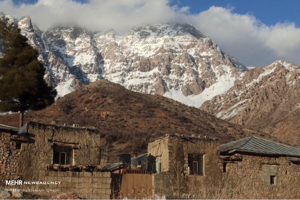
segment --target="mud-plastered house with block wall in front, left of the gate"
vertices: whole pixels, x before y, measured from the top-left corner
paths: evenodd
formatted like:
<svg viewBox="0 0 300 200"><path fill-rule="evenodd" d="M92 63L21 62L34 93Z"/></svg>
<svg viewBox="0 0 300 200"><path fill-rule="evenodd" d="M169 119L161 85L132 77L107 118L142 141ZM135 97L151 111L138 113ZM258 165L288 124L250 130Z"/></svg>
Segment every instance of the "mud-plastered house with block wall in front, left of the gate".
<svg viewBox="0 0 300 200"><path fill-rule="evenodd" d="M109 199L107 149L101 148L95 128L42 124L30 121L20 130L0 127L0 179L61 181L56 185L20 186L75 190L89 199Z"/></svg>

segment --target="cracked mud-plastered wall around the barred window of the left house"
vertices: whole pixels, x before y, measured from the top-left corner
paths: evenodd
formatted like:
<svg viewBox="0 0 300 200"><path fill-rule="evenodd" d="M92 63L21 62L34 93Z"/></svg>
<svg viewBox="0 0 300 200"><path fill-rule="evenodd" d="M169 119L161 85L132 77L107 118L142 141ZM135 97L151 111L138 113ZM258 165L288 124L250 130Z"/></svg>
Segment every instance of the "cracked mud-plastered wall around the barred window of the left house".
<svg viewBox="0 0 300 200"><path fill-rule="evenodd" d="M54 124L28 123L28 147L19 157L18 175L24 180L37 180L40 164L52 164L53 145L73 149L73 165L100 164L100 134L83 128Z"/></svg>

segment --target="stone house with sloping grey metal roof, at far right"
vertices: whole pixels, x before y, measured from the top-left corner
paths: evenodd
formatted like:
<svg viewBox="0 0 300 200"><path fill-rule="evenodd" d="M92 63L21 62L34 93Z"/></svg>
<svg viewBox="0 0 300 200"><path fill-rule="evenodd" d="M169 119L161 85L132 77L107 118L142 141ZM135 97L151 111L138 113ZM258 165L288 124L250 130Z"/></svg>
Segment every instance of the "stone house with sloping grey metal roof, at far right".
<svg viewBox="0 0 300 200"><path fill-rule="evenodd" d="M255 136L220 145L223 177L271 199L299 199L300 149Z"/></svg>

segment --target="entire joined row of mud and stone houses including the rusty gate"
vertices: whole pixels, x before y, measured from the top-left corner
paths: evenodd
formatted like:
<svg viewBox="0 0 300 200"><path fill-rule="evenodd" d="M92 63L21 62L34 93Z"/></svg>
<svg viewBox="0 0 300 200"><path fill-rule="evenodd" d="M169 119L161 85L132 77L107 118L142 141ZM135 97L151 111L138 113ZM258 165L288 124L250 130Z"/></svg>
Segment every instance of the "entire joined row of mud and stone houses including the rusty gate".
<svg viewBox="0 0 300 200"><path fill-rule="evenodd" d="M220 145L216 137L167 134L145 144L146 153L120 154L108 164L93 127L31 121L0 131L2 184L59 181L21 188L71 190L88 199L217 198L224 188L260 199L299 198L300 149L254 136Z"/></svg>

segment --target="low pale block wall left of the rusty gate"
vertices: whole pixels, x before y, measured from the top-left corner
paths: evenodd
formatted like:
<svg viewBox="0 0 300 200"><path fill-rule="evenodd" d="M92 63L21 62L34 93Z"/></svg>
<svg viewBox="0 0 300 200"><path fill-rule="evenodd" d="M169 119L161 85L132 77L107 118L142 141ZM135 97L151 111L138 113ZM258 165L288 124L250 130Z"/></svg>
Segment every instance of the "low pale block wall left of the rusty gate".
<svg viewBox="0 0 300 200"><path fill-rule="evenodd" d="M86 166L70 167L41 165L39 181L61 181L61 184L38 185L37 188L56 189L58 192L71 190L83 199L110 199L111 173L108 170L101 166L89 169Z"/></svg>

